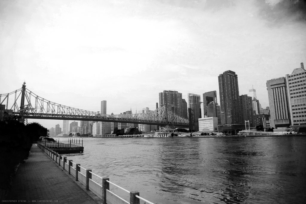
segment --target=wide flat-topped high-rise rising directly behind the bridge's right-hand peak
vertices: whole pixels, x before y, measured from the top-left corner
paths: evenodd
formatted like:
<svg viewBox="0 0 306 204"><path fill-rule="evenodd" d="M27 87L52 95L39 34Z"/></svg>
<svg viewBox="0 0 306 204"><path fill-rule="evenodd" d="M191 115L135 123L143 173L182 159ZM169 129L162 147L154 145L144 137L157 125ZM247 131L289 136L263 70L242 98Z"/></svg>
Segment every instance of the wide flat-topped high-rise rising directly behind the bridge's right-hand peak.
<svg viewBox="0 0 306 204"><path fill-rule="evenodd" d="M177 91L166 91L159 93L159 107L163 105L174 107L174 113L182 117L182 93Z"/></svg>

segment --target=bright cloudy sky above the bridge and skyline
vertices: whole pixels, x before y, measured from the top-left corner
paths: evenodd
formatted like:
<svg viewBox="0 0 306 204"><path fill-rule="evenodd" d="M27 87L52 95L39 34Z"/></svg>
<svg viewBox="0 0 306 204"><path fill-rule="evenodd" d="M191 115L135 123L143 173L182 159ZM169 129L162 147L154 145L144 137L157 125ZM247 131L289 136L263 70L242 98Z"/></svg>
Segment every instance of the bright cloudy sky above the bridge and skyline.
<svg viewBox="0 0 306 204"><path fill-rule="evenodd" d="M58 104L135 113L163 90L219 101L218 75L232 70L264 108L266 81L306 63L305 32L305 1L0 0L0 93L25 81Z"/></svg>

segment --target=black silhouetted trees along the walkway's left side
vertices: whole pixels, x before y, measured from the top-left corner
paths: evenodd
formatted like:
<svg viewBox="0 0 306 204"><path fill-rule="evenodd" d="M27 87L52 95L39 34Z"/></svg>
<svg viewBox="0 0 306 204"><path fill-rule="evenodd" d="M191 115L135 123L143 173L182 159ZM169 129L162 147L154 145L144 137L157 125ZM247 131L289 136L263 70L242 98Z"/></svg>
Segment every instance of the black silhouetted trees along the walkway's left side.
<svg viewBox="0 0 306 204"><path fill-rule="evenodd" d="M47 128L39 123L24 125L16 118L0 122L0 189L9 187L14 168L28 158L32 143L47 137Z"/></svg>

